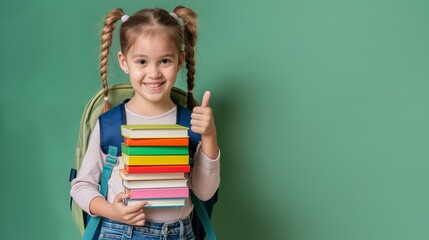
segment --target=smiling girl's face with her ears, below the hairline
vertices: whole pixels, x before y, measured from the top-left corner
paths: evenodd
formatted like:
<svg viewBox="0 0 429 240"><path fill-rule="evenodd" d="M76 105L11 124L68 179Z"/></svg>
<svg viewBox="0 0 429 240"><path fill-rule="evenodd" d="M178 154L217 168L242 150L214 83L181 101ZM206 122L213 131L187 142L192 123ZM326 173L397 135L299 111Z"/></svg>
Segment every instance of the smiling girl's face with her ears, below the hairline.
<svg viewBox="0 0 429 240"><path fill-rule="evenodd" d="M171 103L170 91L184 59L171 41L156 34L142 36L126 56L120 52L118 57L121 68L130 74L139 103Z"/></svg>

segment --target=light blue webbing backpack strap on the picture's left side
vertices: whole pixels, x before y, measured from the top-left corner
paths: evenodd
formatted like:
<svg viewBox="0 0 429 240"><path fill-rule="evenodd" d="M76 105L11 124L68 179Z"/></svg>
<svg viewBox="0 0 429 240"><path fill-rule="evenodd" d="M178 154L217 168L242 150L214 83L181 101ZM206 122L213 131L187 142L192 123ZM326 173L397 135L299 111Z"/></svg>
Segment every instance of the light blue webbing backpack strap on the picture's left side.
<svg viewBox="0 0 429 240"><path fill-rule="evenodd" d="M103 172L101 173L101 190L100 193L103 197L107 196L107 182L109 181L110 175L112 175L113 168L118 163L118 148L114 146L109 146L109 152L106 157L106 163L103 166ZM91 217L88 225L86 226L85 232L83 233L83 240L94 240L98 239L99 225L101 217Z"/></svg>

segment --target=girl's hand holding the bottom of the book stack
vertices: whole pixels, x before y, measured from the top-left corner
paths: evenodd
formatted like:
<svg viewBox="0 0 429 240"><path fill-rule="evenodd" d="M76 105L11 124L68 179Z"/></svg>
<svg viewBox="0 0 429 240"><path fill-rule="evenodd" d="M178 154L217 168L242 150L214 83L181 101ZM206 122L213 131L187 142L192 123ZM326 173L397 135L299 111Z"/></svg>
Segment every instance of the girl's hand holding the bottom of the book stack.
<svg viewBox="0 0 429 240"><path fill-rule="evenodd" d="M143 207L147 205L144 201L135 206L126 206L124 199L129 198L129 194L119 193L112 203L111 219L133 226L143 226L145 223L145 214Z"/></svg>

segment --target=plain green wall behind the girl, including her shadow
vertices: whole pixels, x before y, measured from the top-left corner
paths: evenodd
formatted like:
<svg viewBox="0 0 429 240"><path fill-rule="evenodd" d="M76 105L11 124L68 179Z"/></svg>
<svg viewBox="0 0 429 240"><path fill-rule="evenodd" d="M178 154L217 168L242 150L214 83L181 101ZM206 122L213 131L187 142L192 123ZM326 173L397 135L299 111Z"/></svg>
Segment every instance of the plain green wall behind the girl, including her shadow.
<svg viewBox="0 0 429 240"><path fill-rule="evenodd" d="M1 239L79 239L68 174L104 15L179 4L199 14L219 239L429 239L426 0L2 1Z"/></svg>

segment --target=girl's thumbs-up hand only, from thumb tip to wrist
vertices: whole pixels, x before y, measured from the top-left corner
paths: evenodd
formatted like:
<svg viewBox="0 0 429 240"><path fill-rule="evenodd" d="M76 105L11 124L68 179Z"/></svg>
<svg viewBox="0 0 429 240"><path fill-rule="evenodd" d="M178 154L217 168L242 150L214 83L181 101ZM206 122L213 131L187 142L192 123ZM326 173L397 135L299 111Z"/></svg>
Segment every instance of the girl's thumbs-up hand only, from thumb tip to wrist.
<svg viewBox="0 0 429 240"><path fill-rule="evenodd" d="M206 91L200 107L194 107L191 115L191 130L203 136L215 135L212 109L209 107L210 92Z"/></svg>

